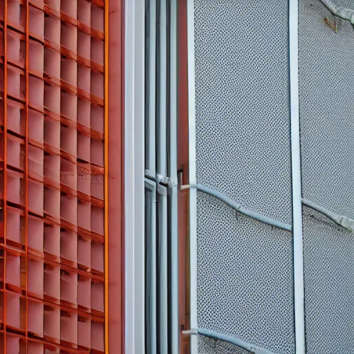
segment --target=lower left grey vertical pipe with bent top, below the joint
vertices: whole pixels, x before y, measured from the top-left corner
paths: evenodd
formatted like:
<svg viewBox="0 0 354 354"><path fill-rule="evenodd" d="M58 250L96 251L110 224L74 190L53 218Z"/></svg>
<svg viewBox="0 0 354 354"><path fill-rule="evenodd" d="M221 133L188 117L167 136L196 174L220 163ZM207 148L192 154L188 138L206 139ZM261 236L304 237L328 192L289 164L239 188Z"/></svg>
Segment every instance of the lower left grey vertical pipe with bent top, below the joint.
<svg viewBox="0 0 354 354"><path fill-rule="evenodd" d="M145 179L145 187L151 195L150 230L147 235L147 354L157 353L156 324L156 183Z"/></svg>

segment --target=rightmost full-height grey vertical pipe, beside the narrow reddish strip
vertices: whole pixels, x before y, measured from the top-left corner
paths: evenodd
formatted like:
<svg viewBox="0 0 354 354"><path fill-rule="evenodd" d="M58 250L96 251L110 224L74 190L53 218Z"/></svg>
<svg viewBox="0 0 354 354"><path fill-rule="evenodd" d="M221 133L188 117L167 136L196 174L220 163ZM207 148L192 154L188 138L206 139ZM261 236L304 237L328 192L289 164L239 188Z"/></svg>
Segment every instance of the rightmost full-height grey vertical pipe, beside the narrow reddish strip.
<svg viewBox="0 0 354 354"><path fill-rule="evenodd" d="M169 38L169 178L171 254L171 354L179 353L178 326L178 178L177 178L177 0L170 1Z"/></svg>

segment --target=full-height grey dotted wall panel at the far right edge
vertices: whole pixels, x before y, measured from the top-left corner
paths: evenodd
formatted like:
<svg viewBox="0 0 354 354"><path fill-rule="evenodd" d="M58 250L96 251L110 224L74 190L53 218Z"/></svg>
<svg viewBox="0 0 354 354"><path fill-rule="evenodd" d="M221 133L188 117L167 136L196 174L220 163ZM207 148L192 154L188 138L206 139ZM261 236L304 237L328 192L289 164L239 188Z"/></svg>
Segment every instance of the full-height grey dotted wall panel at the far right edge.
<svg viewBox="0 0 354 354"><path fill-rule="evenodd" d="M337 6L354 8L353 0ZM299 89L303 196L354 217L354 30L319 0L299 1ZM304 208L308 354L353 353L353 232ZM326 338L324 340L324 338Z"/></svg>

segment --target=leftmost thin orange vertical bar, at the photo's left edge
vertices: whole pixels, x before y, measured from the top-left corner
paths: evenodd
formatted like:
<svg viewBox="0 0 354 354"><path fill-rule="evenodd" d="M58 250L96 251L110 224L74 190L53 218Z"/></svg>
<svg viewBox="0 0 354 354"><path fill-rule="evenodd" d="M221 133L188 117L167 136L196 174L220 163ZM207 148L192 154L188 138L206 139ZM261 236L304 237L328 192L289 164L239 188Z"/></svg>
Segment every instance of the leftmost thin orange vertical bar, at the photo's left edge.
<svg viewBox="0 0 354 354"><path fill-rule="evenodd" d="M6 224L8 184L8 0L5 1L3 23L3 353L6 354Z"/></svg>

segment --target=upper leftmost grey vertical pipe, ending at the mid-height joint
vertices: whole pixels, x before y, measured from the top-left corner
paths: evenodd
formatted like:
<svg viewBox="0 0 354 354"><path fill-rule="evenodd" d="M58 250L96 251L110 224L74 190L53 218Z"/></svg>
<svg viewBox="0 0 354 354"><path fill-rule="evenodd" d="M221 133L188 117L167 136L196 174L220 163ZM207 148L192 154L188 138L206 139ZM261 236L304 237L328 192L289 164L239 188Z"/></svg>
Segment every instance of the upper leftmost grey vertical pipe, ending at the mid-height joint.
<svg viewBox="0 0 354 354"><path fill-rule="evenodd" d="M149 0L149 172L156 176L156 0Z"/></svg>

